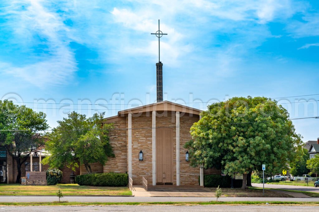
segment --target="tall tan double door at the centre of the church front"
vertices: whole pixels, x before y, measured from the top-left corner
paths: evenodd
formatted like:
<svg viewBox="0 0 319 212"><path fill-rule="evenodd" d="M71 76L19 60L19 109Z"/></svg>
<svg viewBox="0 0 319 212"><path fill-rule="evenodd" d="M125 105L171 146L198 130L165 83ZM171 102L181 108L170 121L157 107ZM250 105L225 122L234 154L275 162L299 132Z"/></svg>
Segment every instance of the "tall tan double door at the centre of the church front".
<svg viewBox="0 0 319 212"><path fill-rule="evenodd" d="M173 185L173 129L156 129L156 184Z"/></svg>

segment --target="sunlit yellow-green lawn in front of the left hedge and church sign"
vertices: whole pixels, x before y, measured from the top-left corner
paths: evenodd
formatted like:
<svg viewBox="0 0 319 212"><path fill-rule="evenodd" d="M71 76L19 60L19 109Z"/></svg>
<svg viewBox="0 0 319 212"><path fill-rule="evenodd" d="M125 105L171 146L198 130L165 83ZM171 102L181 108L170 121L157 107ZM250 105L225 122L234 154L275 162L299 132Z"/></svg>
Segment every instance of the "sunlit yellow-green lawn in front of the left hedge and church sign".
<svg viewBox="0 0 319 212"><path fill-rule="evenodd" d="M31 186L20 184L0 184L0 195L132 195L128 187L95 187L78 184L57 184L55 186Z"/></svg>

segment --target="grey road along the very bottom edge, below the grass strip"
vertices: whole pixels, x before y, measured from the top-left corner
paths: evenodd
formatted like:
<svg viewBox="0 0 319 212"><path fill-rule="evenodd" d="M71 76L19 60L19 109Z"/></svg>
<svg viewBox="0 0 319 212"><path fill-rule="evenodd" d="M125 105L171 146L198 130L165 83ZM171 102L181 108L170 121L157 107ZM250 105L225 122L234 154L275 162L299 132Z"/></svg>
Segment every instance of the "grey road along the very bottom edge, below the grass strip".
<svg viewBox="0 0 319 212"><path fill-rule="evenodd" d="M172 205L116 205L116 206L0 206L2 211L39 211L39 212L55 212L55 211L317 211L318 206L281 206L281 205L194 205L194 206L172 206Z"/></svg>

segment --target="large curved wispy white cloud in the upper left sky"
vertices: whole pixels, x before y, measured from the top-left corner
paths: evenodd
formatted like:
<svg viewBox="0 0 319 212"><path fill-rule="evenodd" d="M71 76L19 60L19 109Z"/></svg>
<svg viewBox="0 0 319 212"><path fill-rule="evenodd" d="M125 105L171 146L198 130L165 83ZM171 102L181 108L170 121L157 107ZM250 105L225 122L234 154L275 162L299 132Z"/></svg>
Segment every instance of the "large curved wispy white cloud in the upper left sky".
<svg viewBox="0 0 319 212"><path fill-rule="evenodd" d="M55 12L45 8L43 1L11 1L1 15L10 17L6 23L13 31L13 41L26 49L46 45L47 53L30 53L24 65L2 62L0 70L22 78L38 87L59 85L70 81L77 71L74 54L64 36L68 29ZM24 9L21 9L23 7ZM39 43L38 39L42 41ZM0 61L1 62L1 61Z"/></svg>

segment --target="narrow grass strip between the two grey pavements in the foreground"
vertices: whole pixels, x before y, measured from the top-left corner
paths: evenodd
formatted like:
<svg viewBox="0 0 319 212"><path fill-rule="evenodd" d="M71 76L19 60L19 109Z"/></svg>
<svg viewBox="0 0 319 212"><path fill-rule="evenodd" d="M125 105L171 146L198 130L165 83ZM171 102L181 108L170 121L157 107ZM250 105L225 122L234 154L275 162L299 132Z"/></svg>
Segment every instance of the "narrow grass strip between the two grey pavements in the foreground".
<svg viewBox="0 0 319 212"><path fill-rule="evenodd" d="M270 201L269 205L314 205L319 202L283 202ZM264 205L266 201L236 201L236 202L0 202L0 206L86 206L86 205Z"/></svg>

